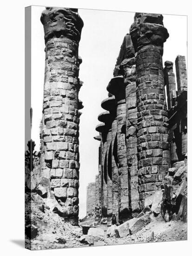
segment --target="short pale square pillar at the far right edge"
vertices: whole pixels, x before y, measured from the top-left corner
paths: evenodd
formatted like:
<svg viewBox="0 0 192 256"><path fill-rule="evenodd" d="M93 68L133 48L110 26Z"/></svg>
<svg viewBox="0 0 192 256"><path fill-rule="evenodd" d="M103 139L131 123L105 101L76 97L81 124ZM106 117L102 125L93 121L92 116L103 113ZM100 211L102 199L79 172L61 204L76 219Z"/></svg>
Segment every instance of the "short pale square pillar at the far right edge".
<svg viewBox="0 0 192 256"><path fill-rule="evenodd" d="M178 94L182 90L187 91L187 71L185 56L178 55L175 60Z"/></svg>

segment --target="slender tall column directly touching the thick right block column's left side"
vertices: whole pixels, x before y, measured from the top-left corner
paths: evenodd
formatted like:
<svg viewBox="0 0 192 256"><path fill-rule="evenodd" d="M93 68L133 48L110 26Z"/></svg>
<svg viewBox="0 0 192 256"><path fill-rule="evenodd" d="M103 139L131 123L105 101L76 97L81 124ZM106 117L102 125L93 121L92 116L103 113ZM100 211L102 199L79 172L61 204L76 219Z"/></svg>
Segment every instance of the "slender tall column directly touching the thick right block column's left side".
<svg viewBox="0 0 192 256"><path fill-rule="evenodd" d="M135 52L130 34L126 34L126 59L121 62L120 69L126 85L126 156L129 175L129 206L132 216L140 210L138 190L137 160L137 96Z"/></svg>

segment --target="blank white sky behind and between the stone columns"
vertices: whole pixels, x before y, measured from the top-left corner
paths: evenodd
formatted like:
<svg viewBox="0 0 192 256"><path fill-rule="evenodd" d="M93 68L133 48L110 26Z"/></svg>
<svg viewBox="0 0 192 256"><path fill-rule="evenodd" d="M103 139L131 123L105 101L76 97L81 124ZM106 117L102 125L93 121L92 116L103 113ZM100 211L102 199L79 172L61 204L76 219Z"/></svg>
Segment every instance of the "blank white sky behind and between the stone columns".
<svg viewBox="0 0 192 256"><path fill-rule="evenodd" d="M42 117L45 43L43 25L40 22L41 12L45 7L32 7L32 139L36 142L36 150L40 146L40 120ZM100 103L107 97L106 86L113 77L113 69L123 38L129 33L134 13L101 10L79 9L84 21L79 55L83 62L80 65L79 79L84 82L79 92L79 99L84 108L80 117L79 128L79 217L86 215L86 186L94 182L98 174L99 141L93 136L99 123L99 113L105 111ZM187 56L187 17L179 15L163 15L164 26L170 36L164 44L163 62L175 62L176 56Z"/></svg>

